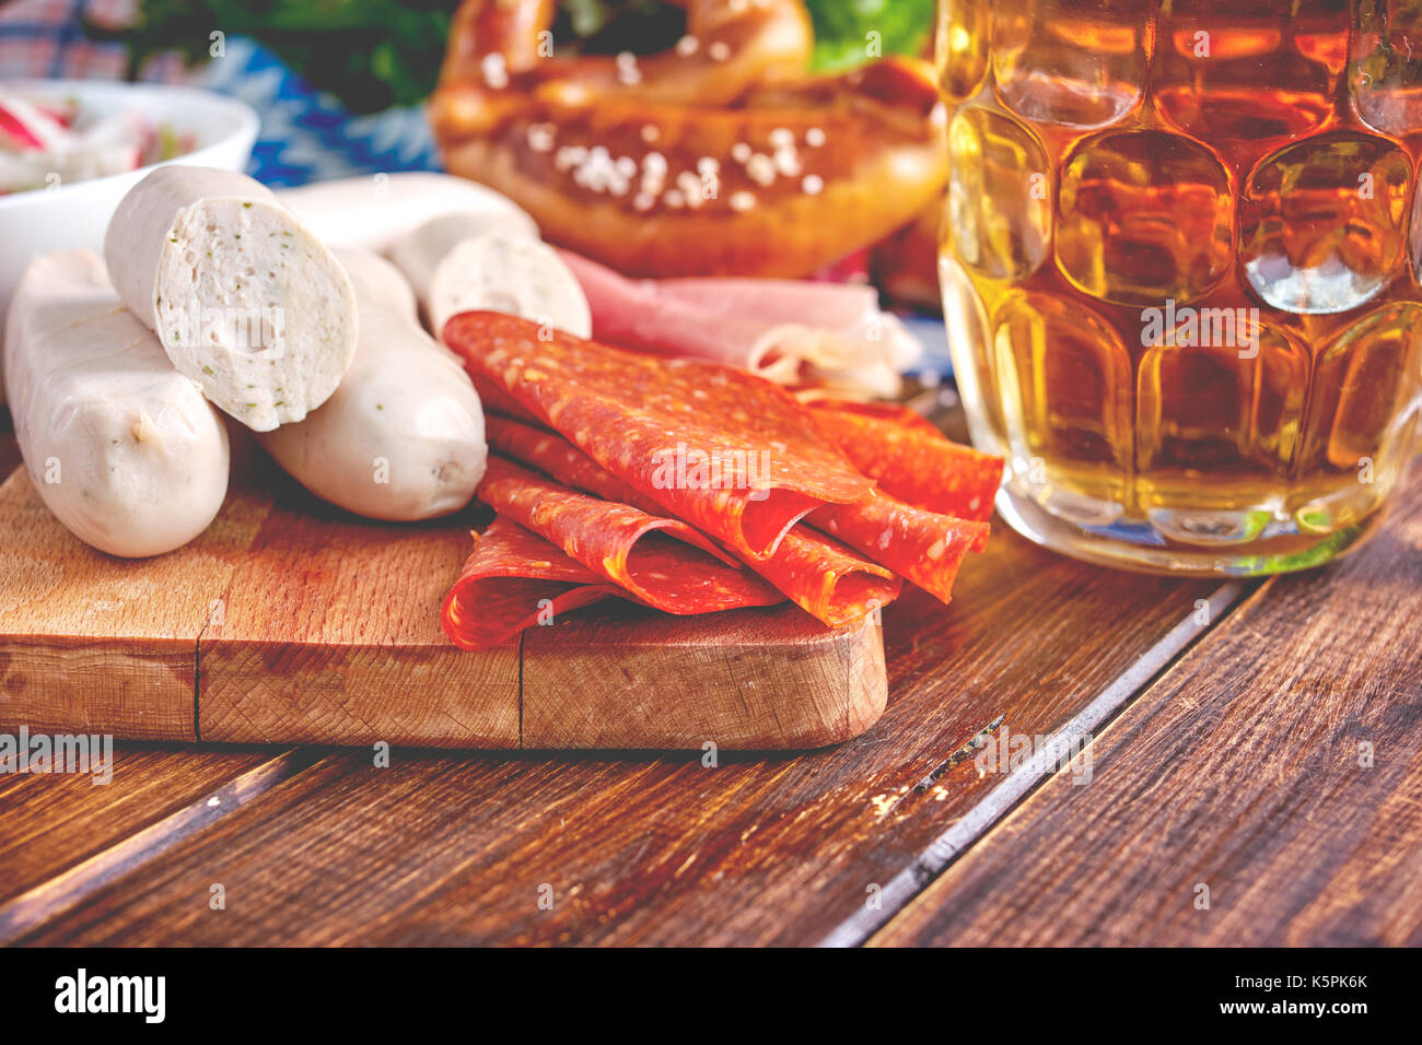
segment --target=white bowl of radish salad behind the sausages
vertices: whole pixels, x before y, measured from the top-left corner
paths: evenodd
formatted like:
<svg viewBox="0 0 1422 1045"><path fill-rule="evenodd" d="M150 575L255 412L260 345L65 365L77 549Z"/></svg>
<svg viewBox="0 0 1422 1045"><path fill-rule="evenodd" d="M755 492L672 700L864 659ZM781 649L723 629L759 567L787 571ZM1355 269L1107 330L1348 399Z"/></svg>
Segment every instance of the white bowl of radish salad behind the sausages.
<svg viewBox="0 0 1422 1045"><path fill-rule="evenodd" d="M210 91L168 84L122 84L105 80L7 80L26 98L73 100L81 117L138 109L154 124L191 135L192 152L165 164L198 164L245 171L257 138L250 105ZM10 294L34 254L74 247L104 249L108 219L134 185L159 164L92 178L57 189L0 196L0 331ZM0 388L0 402L4 391Z"/></svg>

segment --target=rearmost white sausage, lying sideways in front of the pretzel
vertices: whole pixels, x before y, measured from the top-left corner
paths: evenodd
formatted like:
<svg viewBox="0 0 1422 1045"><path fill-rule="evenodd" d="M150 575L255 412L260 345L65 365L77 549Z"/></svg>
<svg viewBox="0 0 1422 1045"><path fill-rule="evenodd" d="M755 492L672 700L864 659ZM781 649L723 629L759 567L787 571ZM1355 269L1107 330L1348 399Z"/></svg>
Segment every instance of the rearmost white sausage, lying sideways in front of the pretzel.
<svg viewBox="0 0 1422 1045"><path fill-rule="evenodd" d="M445 173L412 171L338 178L279 189L277 199L327 243L381 254L411 229L448 213L502 215L538 235L533 219L508 196Z"/></svg>

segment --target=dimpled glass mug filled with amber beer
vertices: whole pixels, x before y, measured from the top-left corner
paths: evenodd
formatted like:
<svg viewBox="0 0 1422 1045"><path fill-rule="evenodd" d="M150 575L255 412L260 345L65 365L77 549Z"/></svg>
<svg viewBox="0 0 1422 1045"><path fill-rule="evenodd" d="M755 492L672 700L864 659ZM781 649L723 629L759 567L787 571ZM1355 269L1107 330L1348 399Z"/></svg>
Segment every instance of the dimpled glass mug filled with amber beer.
<svg viewBox="0 0 1422 1045"><path fill-rule="evenodd" d="M1422 434L1422 0L940 0L937 67L1012 527L1193 574L1376 527Z"/></svg>

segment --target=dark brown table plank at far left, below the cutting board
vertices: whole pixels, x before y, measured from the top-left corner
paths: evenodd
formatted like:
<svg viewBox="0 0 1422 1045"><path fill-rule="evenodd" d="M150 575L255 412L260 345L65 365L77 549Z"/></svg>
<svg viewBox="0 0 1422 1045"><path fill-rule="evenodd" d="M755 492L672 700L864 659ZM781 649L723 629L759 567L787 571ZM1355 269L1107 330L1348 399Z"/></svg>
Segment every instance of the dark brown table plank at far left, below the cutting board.
<svg viewBox="0 0 1422 1045"><path fill-rule="evenodd" d="M0 775L0 911L270 759L259 751L119 745L107 782L98 768Z"/></svg>

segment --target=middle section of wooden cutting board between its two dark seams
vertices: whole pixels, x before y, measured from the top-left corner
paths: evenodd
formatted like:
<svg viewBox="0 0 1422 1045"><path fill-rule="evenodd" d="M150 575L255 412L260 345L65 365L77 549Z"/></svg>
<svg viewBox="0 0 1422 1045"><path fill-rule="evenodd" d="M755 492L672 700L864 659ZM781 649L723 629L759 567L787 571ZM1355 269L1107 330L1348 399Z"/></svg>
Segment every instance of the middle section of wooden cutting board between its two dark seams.
<svg viewBox="0 0 1422 1045"><path fill-rule="evenodd" d="M253 472L276 506L202 636L202 739L518 748L518 641L469 654L439 626L468 526L357 519Z"/></svg>

